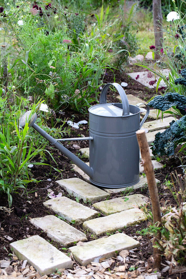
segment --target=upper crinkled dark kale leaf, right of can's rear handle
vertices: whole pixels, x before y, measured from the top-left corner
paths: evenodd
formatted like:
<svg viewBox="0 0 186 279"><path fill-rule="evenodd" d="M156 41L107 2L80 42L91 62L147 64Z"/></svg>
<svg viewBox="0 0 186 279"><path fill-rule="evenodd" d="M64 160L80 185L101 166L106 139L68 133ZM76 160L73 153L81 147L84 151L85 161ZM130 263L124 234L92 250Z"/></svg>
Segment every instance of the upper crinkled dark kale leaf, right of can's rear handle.
<svg viewBox="0 0 186 279"><path fill-rule="evenodd" d="M155 96L153 100L148 103L149 107L165 111L171 107L176 107L180 110L182 115L186 115L186 97L178 93L168 92L164 96Z"/></svg>

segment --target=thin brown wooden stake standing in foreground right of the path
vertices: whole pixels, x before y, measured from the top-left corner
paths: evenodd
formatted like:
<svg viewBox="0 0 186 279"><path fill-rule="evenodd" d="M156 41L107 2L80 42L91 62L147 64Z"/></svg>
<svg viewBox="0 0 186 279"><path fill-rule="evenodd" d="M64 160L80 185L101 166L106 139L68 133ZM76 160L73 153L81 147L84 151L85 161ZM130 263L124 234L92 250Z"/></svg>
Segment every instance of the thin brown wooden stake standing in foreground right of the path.
<svg viewBox="0 0 186 279"><path fill-rule="evenodd" d="M161 211L159 204L159 196L158 196L158 187L156 185L156 179L154 175L154 169L151 161L151 156L149 153L149 145L147 143L147 138L145 135L145 130L138 130L136 132L138 145L141 151L141 163L144 166L144 172L147 177L147 183L149 188L149 194L151 198L152 205L152 215L153 215L153 223L157 223L157 227L161 225ZM158 231L153 238L153 244L155 241L161 240L161 232ZM154 268L161 269L161 252L158 248L153 247L153 257L154 257Z"/></svg>

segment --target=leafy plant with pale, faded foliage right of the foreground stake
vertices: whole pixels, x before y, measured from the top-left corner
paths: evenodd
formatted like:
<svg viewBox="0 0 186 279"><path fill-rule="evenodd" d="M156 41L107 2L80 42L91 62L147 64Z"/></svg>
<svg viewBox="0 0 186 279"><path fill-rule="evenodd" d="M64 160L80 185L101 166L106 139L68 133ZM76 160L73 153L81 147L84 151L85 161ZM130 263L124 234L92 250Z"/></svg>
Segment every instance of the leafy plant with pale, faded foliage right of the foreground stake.
<svg viewBox="0 0 186 279"><path fill-rule="evenodd" d="M171 260L185 263L186 251L186 172L184 176L171 174L171 181L166 181L165 185L172 194L176 206L164 206L161 208L163 214L161 226L152 224L152 212L147 205L142 208L149 220L149 226L142 229L142 234L153 235L161 232L161 240L156 240L155 246L160 249L164 256Z"/></svg>

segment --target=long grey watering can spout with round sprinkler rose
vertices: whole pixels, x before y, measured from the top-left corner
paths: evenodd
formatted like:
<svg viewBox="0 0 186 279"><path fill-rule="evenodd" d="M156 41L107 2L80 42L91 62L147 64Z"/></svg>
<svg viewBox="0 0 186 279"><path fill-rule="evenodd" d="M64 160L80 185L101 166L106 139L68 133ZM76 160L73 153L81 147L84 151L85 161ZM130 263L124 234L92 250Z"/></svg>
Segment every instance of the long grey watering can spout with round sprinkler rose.
<svg viewBox="0 0 186 279"><path fill-rule="evenodd" d="M23 116L20 118L20 127L24 128L26 120L28 121L28 117L31 114L31 110L27 111ZM85 172L90 178L93 177L93 170L87 164L85 164L80 158L78 158L76 155L71 153L65 146L63 146L61 143L59 143L58 140L55 140L53 137L51 137L49 134L46 133L43 129L41 129L37 124L35 124L37 115L34 113L34 115L30 119L29 127L34 128L35 131L37 131L41 136L46 138L47 141L53 146L55 146L59 151L61 151L62 154L64 154L66 157L68 157L75 165L77 165L82 171Z"/></svg>

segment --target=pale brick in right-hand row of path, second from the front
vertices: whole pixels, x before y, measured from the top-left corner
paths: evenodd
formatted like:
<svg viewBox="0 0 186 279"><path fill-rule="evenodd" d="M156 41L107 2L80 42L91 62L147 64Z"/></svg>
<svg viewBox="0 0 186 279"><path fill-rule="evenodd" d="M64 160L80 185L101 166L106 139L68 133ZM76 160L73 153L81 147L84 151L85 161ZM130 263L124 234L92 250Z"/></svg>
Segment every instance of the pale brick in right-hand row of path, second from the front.
<svg viewBox="0 0 186 279"><path fill-rule="evenodd" d="M146 216L142 210L131 208L105 217L85 221L83 229L99 236L116 230L123 230L125 227L139 224L144 220L146 220Z"/></svg>

